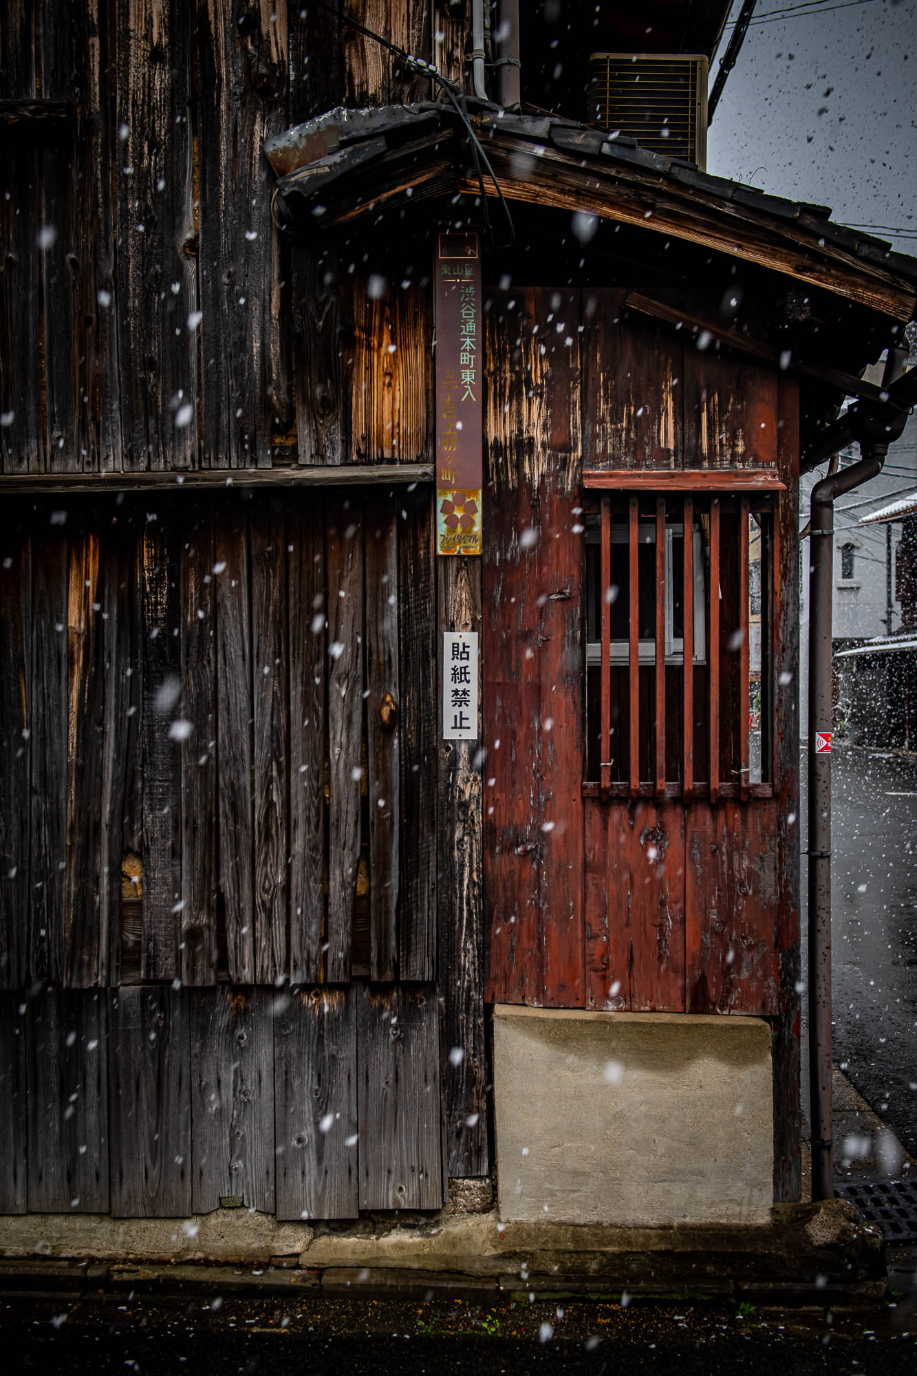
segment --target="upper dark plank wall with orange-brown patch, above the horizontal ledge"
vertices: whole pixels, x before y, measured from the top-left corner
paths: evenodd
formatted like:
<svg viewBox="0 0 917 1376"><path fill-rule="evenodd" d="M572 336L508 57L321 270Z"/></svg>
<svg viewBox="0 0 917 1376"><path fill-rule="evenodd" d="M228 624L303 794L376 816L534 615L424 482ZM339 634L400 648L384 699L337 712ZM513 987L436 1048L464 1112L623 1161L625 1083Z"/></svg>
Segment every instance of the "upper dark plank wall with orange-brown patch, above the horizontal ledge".
<svg viewBox="0 0 917 1376"><path fill-rule="evenodd" d="M464 81L464 6L347 8ZM263 143L344 100L430 94L299 0L8 0L0 473L428 458L428 293L369 300L346 263L339 358L335 256L275 228Z"/></svg>

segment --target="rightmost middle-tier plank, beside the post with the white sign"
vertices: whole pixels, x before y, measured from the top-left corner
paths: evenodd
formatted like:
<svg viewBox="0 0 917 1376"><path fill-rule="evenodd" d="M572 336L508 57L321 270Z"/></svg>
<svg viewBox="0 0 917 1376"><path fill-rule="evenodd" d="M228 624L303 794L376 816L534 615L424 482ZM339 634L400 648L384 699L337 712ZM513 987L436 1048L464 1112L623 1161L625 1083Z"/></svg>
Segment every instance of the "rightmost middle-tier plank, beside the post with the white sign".
<svg viewBox="0 0 917 1376"><path fill-rule="evenodd" d="M398 531L398 973L402 980L430 981L436 970L436 838L442 835L436 826L439 757L434 512L430 495L420 491L416 495L405 494L403 509L408 515Z"/></svg>

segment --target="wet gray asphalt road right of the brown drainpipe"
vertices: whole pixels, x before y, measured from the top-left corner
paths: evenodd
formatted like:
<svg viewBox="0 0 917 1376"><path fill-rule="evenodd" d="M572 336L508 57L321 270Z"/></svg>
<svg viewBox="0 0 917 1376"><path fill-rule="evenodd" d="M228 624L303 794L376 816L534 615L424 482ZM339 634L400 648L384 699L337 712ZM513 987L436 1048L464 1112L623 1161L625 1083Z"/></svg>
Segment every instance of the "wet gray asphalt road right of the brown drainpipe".
<svg viewBox="0 0 917 1376"><path fill-rule="evenodd" d="M917 1156L917 755L832 757L832 981L834 1062Z"/></svg>

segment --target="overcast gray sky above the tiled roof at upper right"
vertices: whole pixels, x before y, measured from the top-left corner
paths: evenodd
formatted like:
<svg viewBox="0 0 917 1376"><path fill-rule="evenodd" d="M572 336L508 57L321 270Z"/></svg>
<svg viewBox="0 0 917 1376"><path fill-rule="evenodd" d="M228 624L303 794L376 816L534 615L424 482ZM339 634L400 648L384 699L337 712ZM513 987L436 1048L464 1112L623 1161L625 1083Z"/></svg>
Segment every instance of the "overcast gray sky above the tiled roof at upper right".
<svg viewBox="0 0 917 1376"><path fill-rule="evenodd" d="M917 0L757 0L708 171L888 226L872 233L917 256Z"/></svg>

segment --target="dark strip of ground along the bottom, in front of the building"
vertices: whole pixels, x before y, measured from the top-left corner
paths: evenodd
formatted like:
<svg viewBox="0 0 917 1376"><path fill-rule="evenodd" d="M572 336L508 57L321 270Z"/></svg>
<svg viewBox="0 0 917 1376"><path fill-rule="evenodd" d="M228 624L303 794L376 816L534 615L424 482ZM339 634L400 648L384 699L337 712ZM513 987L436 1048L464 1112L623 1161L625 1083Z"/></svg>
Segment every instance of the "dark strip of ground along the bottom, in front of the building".
<svg viewBox="0 0 917 1376"><path fill-rule="evenodd" d="M216 1300L216 1296L213 1296ZM32 1298L0 1303L10 1370L81 1373L432 1372L508 1376L621 1369L694 1373L913 1376L917 1325L876 1313L752 1306L315 1300L292 1306L196 1299L168 1306Z"/></svg>

